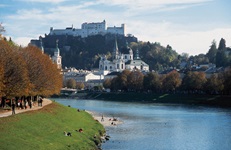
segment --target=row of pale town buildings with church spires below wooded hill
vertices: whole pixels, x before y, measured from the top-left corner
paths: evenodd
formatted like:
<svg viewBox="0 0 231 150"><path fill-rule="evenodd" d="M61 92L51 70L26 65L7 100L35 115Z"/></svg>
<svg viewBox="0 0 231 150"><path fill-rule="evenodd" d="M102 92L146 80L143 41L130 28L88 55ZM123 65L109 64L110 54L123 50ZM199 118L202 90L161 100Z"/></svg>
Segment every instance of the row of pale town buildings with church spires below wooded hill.
<svg viewBox="0 0 231 150"><path fill-rule="evenodd" d="M123 70L140 70L141 72L149 72L149 65L142 61L139 57L138 49L134 52L126 43L126 53L121 53L118 49L117 39L115 38L112 57L107 58L106 55L100 56L99 68L94 71L76 70L75 68L63 68L62 56L58 40L56 40L56 47L54 55L51 57L52 61L57 64L58 69L62 70L64 81L68 79L75 79L78 83L84 83L85 88L91 89L94 86L102 85L107 78L114 78ZM40 40L40 49L44 52L42 40Z"/></svg>

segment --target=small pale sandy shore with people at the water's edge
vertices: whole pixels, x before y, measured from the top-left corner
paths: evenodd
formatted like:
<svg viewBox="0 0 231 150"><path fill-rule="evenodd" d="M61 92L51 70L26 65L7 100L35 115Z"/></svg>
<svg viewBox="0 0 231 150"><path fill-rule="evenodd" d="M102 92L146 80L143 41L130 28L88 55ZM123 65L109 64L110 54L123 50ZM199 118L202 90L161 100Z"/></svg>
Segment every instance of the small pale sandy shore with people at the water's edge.
<svg viewBox="0 0 231 150"><path fill-rule="evenodd" d="M104 116L103 114L99 114L91 111L87 111L87 112L91 114L95 120L98 120L104 127L117 126L123 123L121 120L119 120L116 117Z"/></svg>

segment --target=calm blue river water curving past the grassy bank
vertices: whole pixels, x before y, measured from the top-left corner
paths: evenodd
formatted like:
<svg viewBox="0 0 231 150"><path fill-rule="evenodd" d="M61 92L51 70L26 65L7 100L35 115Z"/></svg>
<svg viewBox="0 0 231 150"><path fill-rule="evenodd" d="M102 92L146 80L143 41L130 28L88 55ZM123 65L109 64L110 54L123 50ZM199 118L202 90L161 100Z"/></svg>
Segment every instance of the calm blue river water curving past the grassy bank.
<svg viewBox="0 0 231 150"><path fill-rule="evenodd" d="M205 106L143 104L55 99L123 124L106 127L103 150L230 150L231 109Z"/></svg>

